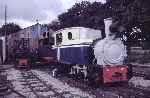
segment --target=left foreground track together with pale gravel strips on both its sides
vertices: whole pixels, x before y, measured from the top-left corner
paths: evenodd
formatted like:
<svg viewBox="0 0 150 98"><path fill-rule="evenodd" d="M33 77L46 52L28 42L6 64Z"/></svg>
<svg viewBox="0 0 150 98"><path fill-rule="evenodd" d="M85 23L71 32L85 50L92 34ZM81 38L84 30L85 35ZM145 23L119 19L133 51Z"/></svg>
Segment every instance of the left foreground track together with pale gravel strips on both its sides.
<svg viewBox="0 0 150 98"><path fill-rule="evenodd" d="M82 93L78 88L72 88L55 79L47 74L47 71L37 69L24 71L12 68L6 73L14 90L25 96L23 98L93 98L92 95Z"/></svg>

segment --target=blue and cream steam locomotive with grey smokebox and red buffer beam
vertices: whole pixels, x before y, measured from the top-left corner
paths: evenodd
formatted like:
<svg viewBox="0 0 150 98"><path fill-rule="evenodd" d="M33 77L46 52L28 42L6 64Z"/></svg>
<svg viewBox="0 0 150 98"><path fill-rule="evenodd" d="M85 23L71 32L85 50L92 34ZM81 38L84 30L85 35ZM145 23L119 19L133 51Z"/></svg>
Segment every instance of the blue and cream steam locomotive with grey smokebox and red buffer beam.
<svg viewBox="0 0 150 98"><path fill-rule="evenodd" d="M53 49L61 64L53 71L83 77L96 84L127 82L132 68L125 64L126 46L121 38L110 33L112 19L105 19L104 23L105 38L100 30L84 27L57 31Z"/></svg>

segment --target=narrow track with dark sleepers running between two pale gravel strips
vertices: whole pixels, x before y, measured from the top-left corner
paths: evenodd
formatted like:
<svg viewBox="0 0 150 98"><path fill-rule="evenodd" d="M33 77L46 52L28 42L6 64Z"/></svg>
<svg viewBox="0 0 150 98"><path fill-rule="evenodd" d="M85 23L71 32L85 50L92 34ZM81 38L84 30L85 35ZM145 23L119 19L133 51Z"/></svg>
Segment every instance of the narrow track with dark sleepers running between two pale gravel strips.
<svg viewBox="0 0 150 98"><path fill-rule="evenodd" d="M29 86L29 88L31 89L31 92L34 93L36 98L45 98L45 97L46 98L47 97L65 98L61 93L56 92L49 85L47 85L44 81L42 81L39 77L37 77L33 72L22 71L21 74L23 76L23 79L25 79L24 82L26 83L26 85ZM34 85L34 84L38 84L38 85ZM54 95L43 96L42 94L40 94L40 92L46 93L48 91L52 91Z"/></svg>

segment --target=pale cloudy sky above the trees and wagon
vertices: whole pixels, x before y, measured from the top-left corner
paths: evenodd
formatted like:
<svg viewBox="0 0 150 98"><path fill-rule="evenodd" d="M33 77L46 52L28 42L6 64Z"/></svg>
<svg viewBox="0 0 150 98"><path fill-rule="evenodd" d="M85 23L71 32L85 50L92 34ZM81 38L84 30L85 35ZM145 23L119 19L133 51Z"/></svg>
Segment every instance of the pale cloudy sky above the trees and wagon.
<svg viewBox="0 0 150 98"><path fill-rule="evenodd" d="M0 0L0 27L4 24L5 5L7 23L13 22L22 28L37 23L50 23L75 3L81 1L102 2L105 0Z"/></svg>

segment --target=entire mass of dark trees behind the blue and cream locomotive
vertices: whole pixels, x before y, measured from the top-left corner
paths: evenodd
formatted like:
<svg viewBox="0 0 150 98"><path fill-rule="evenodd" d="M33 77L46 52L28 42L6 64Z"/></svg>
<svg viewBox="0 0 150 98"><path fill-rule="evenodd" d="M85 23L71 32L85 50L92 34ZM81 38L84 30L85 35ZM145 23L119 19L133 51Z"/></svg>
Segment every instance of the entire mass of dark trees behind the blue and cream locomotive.
<svg viewBox="0 0 150 98"><path fill-rule="evenodd" d="M82 1L58 16L58 21L49 24L53 30L83 26L104 30L103 19L112 17L120 26L119 35L125 34L128 41L150 42L149 0L107 0L107 3ZM137 30L133 30L133 28ZM123 33L121 29L126 30ZM140 32L139 30L140 29Z"/></svg>

